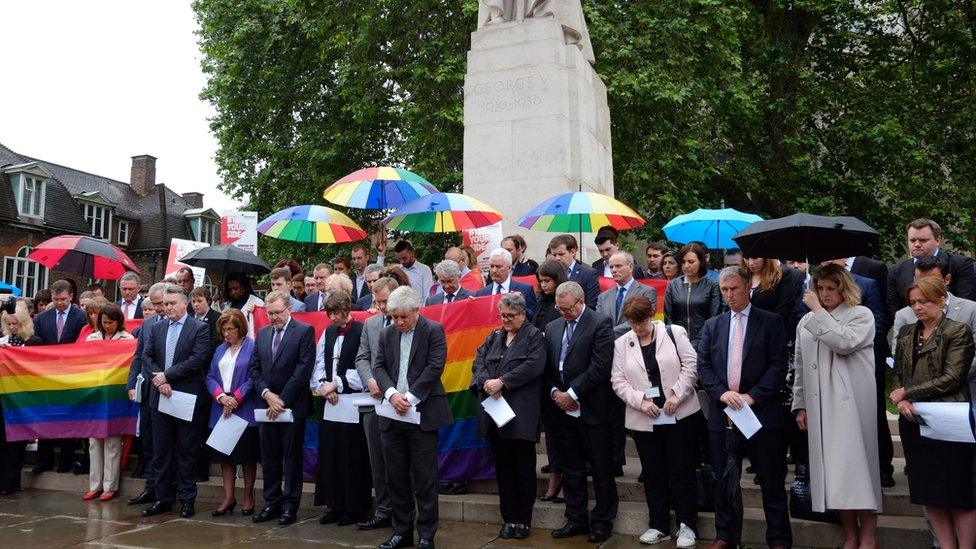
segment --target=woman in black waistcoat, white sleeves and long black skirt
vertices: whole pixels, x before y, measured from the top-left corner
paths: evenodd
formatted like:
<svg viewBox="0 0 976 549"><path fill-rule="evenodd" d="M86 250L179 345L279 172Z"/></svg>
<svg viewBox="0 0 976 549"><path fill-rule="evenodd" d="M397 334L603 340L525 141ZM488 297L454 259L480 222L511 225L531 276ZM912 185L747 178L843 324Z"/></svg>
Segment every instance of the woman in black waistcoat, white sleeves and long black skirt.
<svg viewBox="0 0 976 549"><path fill-rule="evenodd" d="M356 353L363 325L349 316L352 300L345 292L333 292L325 300L332 324L326 328L315 353L315 369L309 385L326 400L326 406L363 392L356 373ZM329 511L319 523L348 526L366 518L372 509L372 469L362 418L356 423L323 419L319 428L319 456L315 474L315 505Z"/></svg>

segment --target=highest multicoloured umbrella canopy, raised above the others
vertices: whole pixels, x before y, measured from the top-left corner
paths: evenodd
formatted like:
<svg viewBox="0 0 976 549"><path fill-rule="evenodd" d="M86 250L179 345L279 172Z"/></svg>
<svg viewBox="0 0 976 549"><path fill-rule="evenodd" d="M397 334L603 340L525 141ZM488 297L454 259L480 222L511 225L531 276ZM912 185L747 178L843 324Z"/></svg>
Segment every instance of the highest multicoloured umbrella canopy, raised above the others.
<svg viewBox="0 0 976 549"><path fill-rule="evenodd" d="M348 208L387 210L436 192L429 181L410 170L377 166L343 177L329 185L322 196Z"/></svg>

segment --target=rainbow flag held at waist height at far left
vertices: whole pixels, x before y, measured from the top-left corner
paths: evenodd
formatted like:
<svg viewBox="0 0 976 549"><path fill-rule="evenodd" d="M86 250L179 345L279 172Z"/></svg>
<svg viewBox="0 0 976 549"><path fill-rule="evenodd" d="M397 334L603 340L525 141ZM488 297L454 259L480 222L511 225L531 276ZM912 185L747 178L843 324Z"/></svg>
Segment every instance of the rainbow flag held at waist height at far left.
<svg viewBox="0 0 976 549"><path fill-rule="evenodd" d="M0 348L7 440L134 435L125 390L136 342Z"/></svg>

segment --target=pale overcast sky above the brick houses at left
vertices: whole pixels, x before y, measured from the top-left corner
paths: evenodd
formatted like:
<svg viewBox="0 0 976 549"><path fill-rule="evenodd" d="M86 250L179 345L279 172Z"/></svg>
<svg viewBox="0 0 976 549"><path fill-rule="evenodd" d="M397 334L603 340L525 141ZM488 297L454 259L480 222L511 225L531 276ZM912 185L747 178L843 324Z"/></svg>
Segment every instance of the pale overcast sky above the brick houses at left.
<svg viewBox="0 0 976 549"><path fill-rule="evenodd" d="M0 143L120 181L151 154L157 183L240 206L217 189L189 0L0 0L0 21Z"/></svg>

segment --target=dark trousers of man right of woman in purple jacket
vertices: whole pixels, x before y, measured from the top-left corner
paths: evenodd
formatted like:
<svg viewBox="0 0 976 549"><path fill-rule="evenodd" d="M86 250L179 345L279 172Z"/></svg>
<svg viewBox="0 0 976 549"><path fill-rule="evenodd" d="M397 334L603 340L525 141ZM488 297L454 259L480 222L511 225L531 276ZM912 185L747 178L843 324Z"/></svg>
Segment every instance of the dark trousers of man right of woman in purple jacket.
<svg viewBox="0 0 976 549"><path fill-rule="evenodd" d="M292 423L262 423L258 426L258 434L261 437L264 506L297 511L304 482L305 418L296 417Z"/></svg>

